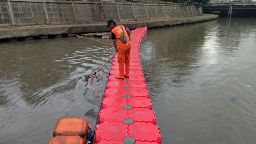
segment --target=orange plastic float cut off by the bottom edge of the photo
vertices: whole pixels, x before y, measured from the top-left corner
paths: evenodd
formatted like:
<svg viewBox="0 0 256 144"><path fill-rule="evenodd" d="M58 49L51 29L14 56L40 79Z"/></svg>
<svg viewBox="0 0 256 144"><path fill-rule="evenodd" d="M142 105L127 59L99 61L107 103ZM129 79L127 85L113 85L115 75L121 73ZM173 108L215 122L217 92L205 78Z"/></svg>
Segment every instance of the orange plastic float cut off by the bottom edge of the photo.
<svg viewBox="0 0 256 144"><path fill-rule="evenodd" d="M80 136L55 136L48 144L84 144L84 139Z"/></svg>

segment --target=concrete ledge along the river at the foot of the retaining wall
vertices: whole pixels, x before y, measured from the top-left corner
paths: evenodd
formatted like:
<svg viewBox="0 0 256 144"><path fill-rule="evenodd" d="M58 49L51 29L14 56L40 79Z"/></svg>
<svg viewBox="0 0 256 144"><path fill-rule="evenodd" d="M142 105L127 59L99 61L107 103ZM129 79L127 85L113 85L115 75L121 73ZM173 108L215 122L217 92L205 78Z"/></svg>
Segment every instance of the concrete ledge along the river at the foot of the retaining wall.
<svg viewBox="0 0 256 144"><path fill-rule="evenodd" d="M171 19L154 19L154 20L136 20L117 22L117 24L124 25L130 30L144 27L148 28L162 27L162 26L178 26L193 24L197 22L204 22L218 18L217 15L203 14L201 16L192 16L185 18L171 18ZM68 34L81 34L89 32L109 32L106 28L106 22L97 22L91 24L42 24L42 25L28 25L28 26L2 26L0 27L0 40L30 40L38 38L52 38L64 37Z"/></svg>

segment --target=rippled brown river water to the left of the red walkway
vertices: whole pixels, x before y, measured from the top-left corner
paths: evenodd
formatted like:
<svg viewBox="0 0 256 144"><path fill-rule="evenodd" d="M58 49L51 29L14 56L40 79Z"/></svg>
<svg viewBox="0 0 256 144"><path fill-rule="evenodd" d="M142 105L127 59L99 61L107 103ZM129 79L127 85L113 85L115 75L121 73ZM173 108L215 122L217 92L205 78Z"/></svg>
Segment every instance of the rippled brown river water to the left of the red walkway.
<svg viewBox="0 0 256 144"><path fill-rule="evenodd" d="M62 117L86 118L95 126L111 62L92 90L81 76L112 53L111 46L76 37L1 43L0 143L45 144Z"/></svg>

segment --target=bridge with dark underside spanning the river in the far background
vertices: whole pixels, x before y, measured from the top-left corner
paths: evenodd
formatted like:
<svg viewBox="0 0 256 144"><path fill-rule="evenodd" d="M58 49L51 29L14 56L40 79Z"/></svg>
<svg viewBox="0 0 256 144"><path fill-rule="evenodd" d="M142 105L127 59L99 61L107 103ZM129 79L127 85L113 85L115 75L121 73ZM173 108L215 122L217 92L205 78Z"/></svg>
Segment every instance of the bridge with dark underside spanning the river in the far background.
<svg viewBox="0 0 256 144"><path fill-rule="evenodd" d="M220 16L256 17L256 0L211 0L202 5L203 13Z"/></svg>

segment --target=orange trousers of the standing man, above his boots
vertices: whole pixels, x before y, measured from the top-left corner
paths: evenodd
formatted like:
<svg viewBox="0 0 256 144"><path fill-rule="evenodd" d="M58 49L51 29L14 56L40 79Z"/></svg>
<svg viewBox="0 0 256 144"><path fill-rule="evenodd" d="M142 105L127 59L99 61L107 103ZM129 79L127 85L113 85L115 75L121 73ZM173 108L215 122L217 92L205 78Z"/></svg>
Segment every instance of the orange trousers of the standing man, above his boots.
<svg viewBox="0 0 256 144"><path fill-rule="evenodd" d="M118 48L118 52L117 52L117 61L119 66L124 66L124 64L126 65L130 65L130 51L131 51L131 45L129 44L128 46L126 46L127 48L122 48L123 50L121 50L121 48Z"/></svg>

